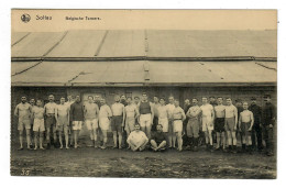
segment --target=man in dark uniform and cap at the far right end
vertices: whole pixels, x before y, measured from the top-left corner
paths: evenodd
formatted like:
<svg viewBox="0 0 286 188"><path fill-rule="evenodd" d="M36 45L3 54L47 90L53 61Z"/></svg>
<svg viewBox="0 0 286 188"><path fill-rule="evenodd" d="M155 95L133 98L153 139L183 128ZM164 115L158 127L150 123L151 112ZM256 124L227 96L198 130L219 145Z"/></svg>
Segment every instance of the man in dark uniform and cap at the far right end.
<svg viewBox="0 0 286 188"><path fill-rule="evenodd" d="M271 102L271 96L264 96L265 106L262 108L262 125L264 129L264 140L266 143L266 155L273 156L273 133L276 120L276 107Z"/></svg>

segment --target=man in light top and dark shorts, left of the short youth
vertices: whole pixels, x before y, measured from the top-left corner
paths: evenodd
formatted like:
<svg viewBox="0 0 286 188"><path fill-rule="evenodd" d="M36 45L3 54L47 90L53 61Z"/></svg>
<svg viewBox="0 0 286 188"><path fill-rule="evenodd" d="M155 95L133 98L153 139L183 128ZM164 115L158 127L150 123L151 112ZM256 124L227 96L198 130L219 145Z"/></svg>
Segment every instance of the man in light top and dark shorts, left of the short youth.
<svg viewBox="0 0 286 188"><path fill-rule="evenodd" d="M237 153L237 124L238 109L232 104L231 98L227 98L224 129L228 134L229 151Z"/></svg>

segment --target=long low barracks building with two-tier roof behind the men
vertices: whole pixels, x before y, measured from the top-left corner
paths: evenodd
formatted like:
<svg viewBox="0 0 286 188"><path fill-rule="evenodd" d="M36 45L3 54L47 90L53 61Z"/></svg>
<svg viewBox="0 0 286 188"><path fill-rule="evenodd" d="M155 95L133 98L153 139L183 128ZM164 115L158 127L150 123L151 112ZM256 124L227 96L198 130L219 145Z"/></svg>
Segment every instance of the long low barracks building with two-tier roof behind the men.
<svg viewBox="0 0 286 188"><path fill-rule="evenodd" d="M277 31L12 33L11 110L21 96L231 97L276 103ZM12 115L12 113L11 113ZM12 134L16 120L12 120Z"/></svg>

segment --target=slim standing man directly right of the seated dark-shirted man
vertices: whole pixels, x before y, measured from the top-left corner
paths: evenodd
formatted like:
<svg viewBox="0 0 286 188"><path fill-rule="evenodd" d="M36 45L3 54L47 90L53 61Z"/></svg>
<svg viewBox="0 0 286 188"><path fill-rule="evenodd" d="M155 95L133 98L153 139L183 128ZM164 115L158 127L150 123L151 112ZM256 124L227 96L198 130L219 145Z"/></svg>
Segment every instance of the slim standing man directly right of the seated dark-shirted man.
<svg viewBox="0 0 286 188"><path fill-rule="evenodd" d="M176 135L174 134L173 132L173 120L172 120L172 117L173 117L173 111L175 109L175 106L174 106L174 97L170 96L168 98L168 104L166 104L167 107L167 111L168 111L168 147L169 148L175 148L176 147Z"/></svg>

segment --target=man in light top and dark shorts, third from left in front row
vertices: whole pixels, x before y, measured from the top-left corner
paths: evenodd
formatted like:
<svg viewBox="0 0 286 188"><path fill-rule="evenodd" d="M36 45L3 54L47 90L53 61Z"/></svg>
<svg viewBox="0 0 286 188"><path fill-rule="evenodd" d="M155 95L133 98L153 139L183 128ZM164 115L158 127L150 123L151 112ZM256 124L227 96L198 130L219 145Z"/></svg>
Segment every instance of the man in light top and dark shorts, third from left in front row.
<svg viewBox="0 0 286 188"><path fill-rule="evenodd" d="M55 98L53 95L48 96L48 103L45 104L45 115L46 115L46 141L47 141L47 148L51 148L51 129L54 135L54 146L56 144L56 119L55 119L55 111L57 104L54 102Z"/></svg>

